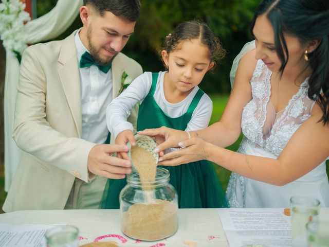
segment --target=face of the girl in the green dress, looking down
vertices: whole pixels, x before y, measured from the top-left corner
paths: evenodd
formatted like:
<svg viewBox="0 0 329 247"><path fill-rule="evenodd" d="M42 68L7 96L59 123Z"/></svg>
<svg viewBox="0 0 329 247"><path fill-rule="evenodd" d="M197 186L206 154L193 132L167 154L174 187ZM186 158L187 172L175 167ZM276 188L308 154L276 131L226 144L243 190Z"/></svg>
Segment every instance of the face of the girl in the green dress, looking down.
<svg viewBox="0 0 329 247"><path fill-rule="evenodd" d="M198 39L183 40L176 49L162 50L162 59L168 66L169 82L180 92L190 92L214 65L209 49Z"/></svg>

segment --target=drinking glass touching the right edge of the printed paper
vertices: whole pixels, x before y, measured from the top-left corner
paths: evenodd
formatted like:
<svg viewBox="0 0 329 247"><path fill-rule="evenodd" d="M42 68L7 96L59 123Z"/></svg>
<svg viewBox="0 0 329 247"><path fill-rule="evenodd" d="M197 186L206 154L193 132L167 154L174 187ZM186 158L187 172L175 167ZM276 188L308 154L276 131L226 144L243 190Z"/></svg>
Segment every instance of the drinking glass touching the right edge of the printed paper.
<svg viewBox="0 0 329 247"><path fill-rule="evenodd" d="M305 226L317 220L320 202L312 197L291 197L291 242L293 247L306 246Z"/></svg>

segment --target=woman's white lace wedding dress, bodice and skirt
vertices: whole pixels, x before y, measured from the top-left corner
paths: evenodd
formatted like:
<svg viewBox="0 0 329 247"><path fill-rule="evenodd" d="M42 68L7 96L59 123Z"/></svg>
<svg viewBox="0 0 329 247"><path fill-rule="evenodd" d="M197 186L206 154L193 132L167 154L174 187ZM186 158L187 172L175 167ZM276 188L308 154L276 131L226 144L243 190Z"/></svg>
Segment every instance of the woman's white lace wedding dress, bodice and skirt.
<svg viewBox="0 0 329 247"><path fill-rule="evenodd" d="M270 101L270 77L270 70L259 60L251 79L252 99L245 105L242 113L244 138L238 150L240 153L277 158L290 137L310 116L315 101L307 96L308 79L301 84L286 108L276 113ZM329 184L325 161L303 177L284 186L255 181L232 173L226 195L230 207L289 207L292 196L312 196L320 201L321 206L328 207Z"/></svg>

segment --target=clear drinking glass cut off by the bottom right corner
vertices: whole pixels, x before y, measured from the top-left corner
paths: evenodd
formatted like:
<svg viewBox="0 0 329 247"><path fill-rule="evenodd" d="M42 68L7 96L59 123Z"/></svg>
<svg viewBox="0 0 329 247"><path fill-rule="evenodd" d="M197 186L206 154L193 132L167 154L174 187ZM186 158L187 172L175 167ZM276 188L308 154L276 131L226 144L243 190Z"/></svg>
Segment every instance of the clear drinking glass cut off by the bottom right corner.
<svg viewBox="0 0 329 247"><path fill-rule="evenodd" d="M306 232L308 247L325 247L329 245L329 221L308 222Z"/></svg>

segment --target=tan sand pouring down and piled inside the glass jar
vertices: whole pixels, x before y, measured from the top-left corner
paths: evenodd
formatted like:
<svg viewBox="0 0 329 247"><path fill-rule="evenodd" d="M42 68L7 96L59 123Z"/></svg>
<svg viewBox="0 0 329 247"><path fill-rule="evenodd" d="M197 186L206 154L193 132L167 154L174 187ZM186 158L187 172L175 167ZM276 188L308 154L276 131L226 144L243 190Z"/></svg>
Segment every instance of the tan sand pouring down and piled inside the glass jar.
<svg viewBox="0 0 329 247"><path fill-rule="evenodd" d="M157 162L148 150L134 146L132 163L139 173L144 203L132 205L121 218L125 235L141 240L159 240L173 235L177 230L177 204L155 197Z"/></svg>

